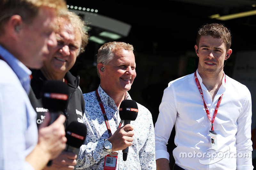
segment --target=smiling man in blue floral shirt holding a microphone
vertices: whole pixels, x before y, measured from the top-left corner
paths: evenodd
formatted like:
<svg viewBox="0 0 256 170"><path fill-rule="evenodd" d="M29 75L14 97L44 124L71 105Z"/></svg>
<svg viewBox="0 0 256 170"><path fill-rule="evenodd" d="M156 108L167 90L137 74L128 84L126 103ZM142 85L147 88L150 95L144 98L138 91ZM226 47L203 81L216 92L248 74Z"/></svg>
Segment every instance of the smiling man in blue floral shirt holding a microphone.
<svg viewBox="0 0 256 170"><path fill-rule="evenodd" d="M124 99L132 100L127 91L136 77L135 67L132 45L109 42L100 47L97 55L100 86L97 92L84 94L87 137L80 148L77 169L156 169L154 125L148 109L137 103L136 120L118 128L119 106ZM102 114L104 111L111 133ZM129 153L123 161L122 150L126 147Z"/></svg>

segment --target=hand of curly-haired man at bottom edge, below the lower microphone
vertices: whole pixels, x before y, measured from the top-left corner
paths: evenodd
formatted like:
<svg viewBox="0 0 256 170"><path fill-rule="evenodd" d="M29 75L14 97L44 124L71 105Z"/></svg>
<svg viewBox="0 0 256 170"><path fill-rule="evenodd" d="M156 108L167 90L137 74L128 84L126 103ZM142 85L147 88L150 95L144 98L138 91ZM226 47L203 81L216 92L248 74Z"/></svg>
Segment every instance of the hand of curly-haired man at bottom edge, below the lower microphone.
<svg viewBox="0 0 256 170"><path fill-rule="evenodd" d="M52 160L51 166L45 166L44 170L73 170L75 169L77 155L72 152L62 152Z"/></svg>

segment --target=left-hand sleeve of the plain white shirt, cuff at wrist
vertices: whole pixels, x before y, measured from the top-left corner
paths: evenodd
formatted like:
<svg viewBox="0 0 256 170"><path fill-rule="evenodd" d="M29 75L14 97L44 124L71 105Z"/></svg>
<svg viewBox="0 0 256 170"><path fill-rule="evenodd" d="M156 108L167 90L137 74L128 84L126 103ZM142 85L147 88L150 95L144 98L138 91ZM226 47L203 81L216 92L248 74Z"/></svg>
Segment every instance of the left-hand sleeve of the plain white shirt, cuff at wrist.
<svg viewBox="0 0 256 170"><path fill-rule="evenodd" d="M172 132L177 117L174 89L169 83L164 90L162 102L159 106L159 115L155 124L156 159L166 158L169 160L166 144ZM170 161L170 160L169 160Z"/></svg>

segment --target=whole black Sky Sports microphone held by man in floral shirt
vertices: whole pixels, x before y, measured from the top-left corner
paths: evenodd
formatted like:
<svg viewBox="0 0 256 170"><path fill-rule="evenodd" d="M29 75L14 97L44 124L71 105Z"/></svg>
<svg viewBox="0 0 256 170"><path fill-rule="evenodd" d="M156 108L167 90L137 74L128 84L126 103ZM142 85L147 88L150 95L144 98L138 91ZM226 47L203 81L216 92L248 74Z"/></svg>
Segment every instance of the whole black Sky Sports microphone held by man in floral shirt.
<svg viewBox="0 0 256 170"><path fill-rule="evenodd" d="M138 105L135 100L123 100L119 107L119 116L124 121L124 126L135 121L138 115ZM128 149L123 150L123 160L126 161Z"/></svg>

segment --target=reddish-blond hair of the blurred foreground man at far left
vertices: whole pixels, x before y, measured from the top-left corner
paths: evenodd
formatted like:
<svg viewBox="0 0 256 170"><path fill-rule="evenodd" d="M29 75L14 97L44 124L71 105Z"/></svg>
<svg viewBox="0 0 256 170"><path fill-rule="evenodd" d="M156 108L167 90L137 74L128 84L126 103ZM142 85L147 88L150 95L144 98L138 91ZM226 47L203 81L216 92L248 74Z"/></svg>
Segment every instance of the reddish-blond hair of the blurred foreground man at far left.
<svg viewBox="0 0 256 170"><path fill-rule="evenodd" d="M0 0L0 35L4 33L4 25L13 15L20 15L25 23L32 23L42 7L52 8L59 13L67 10L64 0Z"/></svg>

